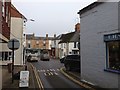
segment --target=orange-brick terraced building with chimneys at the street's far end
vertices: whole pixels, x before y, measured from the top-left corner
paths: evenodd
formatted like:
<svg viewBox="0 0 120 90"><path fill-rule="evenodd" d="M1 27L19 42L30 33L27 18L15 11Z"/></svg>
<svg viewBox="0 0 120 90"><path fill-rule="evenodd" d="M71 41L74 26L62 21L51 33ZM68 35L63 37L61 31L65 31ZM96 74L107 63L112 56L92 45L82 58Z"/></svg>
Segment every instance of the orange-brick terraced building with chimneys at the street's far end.
<svg viewBox="0 0 120 90"><path fill-rule="evenodd" d="M57 57L56 51L57 48L57 41L56 35L53 37L49 37L46 34L46 37L35 36L33 34L26 34L26 49L39 49L43 50L46 49L49 51L51 57Z"/></svg>

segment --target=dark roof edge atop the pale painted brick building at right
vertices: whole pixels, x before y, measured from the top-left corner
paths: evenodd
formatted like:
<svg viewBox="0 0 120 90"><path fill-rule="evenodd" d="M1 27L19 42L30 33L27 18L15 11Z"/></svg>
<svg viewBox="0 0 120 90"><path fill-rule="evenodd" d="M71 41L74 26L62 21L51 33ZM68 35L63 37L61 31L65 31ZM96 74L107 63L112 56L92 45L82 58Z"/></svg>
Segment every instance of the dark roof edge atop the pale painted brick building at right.
<svg viewBox="0 0 120 90"><path fill-rule="evenodd" d="M81 9L78 12L78 14L83 14L83 13L87 12L88 10L91 10L92 8L98 6L98 5L102 4L102 3L104 3L104 2L97 2L97 1L93 2L92 4L90 4L90 5L86 6L86 7L84 7L83 9Z"/></svg>

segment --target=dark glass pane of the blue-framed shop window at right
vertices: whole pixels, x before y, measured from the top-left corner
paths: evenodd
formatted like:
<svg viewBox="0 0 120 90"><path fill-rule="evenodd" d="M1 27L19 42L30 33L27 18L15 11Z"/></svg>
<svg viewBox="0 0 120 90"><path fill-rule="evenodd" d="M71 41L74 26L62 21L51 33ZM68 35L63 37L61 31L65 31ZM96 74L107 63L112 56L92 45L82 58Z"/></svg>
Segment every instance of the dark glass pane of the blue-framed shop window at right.
<svg viewBox="0 0 120 90"><path fill-rule="evenodd" d="M120 41L107 42L107 69L120 71Z"/></svg>

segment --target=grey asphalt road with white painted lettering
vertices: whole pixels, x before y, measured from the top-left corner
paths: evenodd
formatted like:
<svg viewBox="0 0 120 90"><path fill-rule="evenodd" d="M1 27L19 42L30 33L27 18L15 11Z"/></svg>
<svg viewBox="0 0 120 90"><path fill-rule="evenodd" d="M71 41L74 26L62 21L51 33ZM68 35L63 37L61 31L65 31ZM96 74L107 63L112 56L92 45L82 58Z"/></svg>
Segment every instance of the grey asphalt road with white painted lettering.
<svg viewBox="0 0 120 90"><path fill-rule="evenodd" d="M60 68L63 67L63 64L61 64L59 60L53 59L50 61L39 61L32 64L34 67L36 67L37 72L39 73L39 77L43 83L44 89L63 88L83 90L82 87L66 78L60 72Z"/></svg>

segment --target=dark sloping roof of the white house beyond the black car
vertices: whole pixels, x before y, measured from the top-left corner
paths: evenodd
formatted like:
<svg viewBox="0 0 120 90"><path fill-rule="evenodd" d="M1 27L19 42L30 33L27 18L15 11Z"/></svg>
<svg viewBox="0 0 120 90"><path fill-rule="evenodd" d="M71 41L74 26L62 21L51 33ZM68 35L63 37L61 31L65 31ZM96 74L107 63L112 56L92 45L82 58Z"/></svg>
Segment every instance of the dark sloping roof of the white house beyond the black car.
<svg viewBox="0 0 120 90"><path fill-rule="evenodd" d="M67 43L67 42L79 42L80 40L80 33L78 32L71 32L67 34L62 34L60 37L60 43Z"/></svg>

